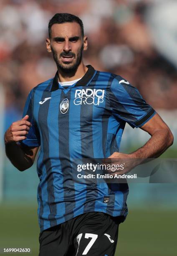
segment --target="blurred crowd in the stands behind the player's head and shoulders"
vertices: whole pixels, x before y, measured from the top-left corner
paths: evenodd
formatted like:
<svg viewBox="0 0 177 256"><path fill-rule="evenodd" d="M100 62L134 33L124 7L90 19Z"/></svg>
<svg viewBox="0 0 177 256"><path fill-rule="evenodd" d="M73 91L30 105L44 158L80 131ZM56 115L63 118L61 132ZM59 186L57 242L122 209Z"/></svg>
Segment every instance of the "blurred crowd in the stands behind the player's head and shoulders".
<svg viewBox="0 0 177 256"><path fill-rule="evenodd" d="M175 0L1 0L0 86L10 123L28 92L56 72L45 39L50 18L65 12L83 20L85 64L129 80L155 109L177 108L176 11Z"/></svg>

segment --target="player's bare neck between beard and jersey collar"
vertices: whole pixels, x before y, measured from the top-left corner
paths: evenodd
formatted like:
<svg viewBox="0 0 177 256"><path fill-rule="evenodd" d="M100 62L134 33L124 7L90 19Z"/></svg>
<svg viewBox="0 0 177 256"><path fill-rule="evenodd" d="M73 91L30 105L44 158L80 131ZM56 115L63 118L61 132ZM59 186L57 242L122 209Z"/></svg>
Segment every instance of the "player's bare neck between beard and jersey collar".
<svg viewBox="0 0 177 256"><path fill-rule="evenodd" d="M58 79L59 82L69 82L79 79L86 74L88 67L83 64L83 61L79 64L78 68L70 73L64 73L60 68L58 68Z"/></svg>

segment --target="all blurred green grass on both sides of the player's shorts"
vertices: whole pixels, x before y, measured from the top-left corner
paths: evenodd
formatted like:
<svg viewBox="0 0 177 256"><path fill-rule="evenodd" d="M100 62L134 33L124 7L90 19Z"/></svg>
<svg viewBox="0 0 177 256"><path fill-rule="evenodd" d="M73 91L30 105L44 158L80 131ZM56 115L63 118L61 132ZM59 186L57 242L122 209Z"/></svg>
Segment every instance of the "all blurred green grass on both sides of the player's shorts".
<svg viewBox="0 0 177 256"><path fill-rule="evenodd" d="M177 210L135 210L129 207L126 221L119 226L115 256L176 255L176 216ZM36 205L0 206L0 248L31 248L29 255L37 256L39 232Z"/></svg>

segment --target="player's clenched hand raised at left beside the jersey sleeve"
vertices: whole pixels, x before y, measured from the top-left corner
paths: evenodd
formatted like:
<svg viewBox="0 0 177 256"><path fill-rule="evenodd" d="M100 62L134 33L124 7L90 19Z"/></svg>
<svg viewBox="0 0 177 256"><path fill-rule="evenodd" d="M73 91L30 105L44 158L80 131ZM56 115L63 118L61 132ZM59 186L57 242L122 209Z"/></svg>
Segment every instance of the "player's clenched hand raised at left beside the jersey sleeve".
<svg viewBox="0 0 177 256"><path fill-rule="evenodd" d="M26 139L26 135L28 134L28 131L32 126L31 123L27 121L28 118L29 115L25 115L24 118L10 125L4 136L5 144L13 141L18 142Z"/></svg>

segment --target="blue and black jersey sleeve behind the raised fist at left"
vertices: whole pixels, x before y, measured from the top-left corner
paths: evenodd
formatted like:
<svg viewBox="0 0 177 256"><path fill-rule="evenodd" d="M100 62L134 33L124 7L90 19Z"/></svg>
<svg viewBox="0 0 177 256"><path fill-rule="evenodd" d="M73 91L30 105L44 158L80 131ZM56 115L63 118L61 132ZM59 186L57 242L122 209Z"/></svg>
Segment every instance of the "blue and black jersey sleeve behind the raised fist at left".
<svg viewBox="0 0 177 256"><path fill-rule="evenodd" d="M38 147L40 146L40 136L39 136L38 128L35 125L35 122L33 120L32 94L33 94L33 90L30 91L28 98L25 102L24 110L23 110L23 117L25 115L29 115L28 121L32 124L32 126L30 127L30 130L26 135L27 138L23 141L19 141L19 143L24 146Z"/></svg>

